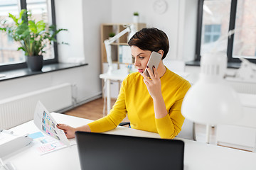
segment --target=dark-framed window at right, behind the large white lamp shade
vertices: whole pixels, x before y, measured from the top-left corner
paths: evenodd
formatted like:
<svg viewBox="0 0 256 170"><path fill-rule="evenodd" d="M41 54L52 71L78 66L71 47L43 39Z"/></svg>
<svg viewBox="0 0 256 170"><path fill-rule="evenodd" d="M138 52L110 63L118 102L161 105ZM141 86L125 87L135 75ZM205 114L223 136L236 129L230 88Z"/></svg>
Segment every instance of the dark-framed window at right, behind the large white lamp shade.
<svg viewBox="0 0 256 170"><path fill-rule="evenodd" d="M199 0L196 60L217 50L227 53L228 62L245 57L256 63L255 6L255 0Z"/></svg>

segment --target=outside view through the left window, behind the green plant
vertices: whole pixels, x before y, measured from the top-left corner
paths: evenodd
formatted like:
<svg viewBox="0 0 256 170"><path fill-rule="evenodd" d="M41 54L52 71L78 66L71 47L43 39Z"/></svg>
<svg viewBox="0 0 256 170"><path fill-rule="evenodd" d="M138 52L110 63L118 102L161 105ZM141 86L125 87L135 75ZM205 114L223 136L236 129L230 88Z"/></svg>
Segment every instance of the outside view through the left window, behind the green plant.
<svg viewBox="0 0 256 170"><path fill-rule="evenodd" d="M47 0L27 0L27 9L31 11L32 18L38 21L45 21L49 25L50 13L48 12ZM11 23L9 13L15 15L17 18L21 11L19 0L0 0L0 23ZM25 62L24 52L17 51L19 43L15 42L6 33L0 31L0 65L14 64ZM43 59L48 60L54 58L53 45L46 47L46 53L43 53Z"/></svg>

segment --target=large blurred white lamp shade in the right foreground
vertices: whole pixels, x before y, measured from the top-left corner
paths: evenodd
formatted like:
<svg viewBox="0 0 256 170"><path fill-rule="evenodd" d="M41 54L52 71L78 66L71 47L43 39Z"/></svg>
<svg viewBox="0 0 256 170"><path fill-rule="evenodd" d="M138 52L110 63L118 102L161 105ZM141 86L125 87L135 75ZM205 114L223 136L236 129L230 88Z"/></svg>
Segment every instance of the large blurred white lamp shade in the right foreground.
<svg viewBox="0 0 256 170"><path fill-rule="evenodd" d="M229 124L242 117L238 94L223 79L226 55L213 53L201 58L201 74L183 98L181 113L201 124Z"/></svg>

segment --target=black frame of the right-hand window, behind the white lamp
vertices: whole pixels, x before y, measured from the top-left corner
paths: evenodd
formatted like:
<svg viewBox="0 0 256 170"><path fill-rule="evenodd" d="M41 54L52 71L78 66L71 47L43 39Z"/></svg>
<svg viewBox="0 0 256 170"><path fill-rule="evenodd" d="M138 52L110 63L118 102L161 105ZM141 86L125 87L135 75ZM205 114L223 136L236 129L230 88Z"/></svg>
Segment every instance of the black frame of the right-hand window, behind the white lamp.
<svg viewBox="0 0 256 170"><path fill-rule="evenodd" d="M198 0L198 21L196 23L196 54L195 60L196 62L200 62L201 60L201 36L202 36L202 24L203 24L203 2L205 0ZM233 30L235 28L235 17L237 11L238 0L231 0L230 5L230 23L228 30ZM228 33L227 33L228 34ZM234 42L234 34L228 38L227 45L227 56L228 63L240 63L241 61L238 58L233 58L233 42ZM256 63L256 59L247 59L252 63Z"/></svg>

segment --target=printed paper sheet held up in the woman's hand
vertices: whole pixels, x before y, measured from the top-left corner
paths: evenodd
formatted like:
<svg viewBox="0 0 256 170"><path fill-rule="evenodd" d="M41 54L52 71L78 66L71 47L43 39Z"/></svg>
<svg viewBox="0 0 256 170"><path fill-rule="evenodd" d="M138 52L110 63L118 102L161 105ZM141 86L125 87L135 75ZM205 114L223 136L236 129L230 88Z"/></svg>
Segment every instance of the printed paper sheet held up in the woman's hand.
<svg viewBox="0 0 256 170"><path fill-rule="evenodd" d="M62 142L64 145L70 146L70 142L65 136L65 133L63 130L60 130L56 127L57 122L53 119L53 117L40 101L38 101L36 105L33 121L35 125L46 135L60 140L60 142Z"/></svg>

